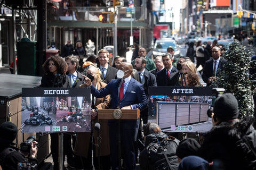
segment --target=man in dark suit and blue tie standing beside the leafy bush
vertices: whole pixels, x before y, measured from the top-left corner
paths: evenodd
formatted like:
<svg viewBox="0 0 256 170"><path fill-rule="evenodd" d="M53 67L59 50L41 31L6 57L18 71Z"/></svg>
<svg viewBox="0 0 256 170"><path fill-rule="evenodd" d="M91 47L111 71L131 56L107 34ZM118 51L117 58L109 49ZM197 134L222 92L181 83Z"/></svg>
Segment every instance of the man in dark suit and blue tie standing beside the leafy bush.
<svg viewBox="0 0 256 170"><path fill-rule="evenodd" d="M210 86L212 80L216 78L218 69L222 69L223 64L227 63L227 60L220 57L220 47L212 48L212 58L207 60L203 67L202 79L207 86Z"/></svg>

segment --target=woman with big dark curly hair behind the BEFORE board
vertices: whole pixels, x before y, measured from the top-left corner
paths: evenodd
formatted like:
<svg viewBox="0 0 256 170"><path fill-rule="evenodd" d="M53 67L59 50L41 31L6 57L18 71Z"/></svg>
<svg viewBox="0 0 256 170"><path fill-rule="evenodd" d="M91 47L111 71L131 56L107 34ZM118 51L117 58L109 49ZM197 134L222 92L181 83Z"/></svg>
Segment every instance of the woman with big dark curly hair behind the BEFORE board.
<svg viewBox="0 0 256 170"><path fill-rule="evenodd" d="M49 57L43 64L46 75L42 77L41 87L71 87L71 81L66 75L67 68L68 65L62 57Z"/></svg>

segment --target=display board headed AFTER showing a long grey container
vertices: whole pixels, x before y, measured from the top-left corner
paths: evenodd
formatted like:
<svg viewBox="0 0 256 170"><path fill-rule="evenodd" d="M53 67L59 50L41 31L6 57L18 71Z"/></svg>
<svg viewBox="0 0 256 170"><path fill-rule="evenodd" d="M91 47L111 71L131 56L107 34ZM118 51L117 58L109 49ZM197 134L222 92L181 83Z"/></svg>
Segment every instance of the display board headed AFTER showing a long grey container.
<svg viewBox="0 0 256 170"><path fill-rule="evenodd" d="M212 87L150 87L149 115L163 131L206 132L212 128L207 110Z"/></svg>

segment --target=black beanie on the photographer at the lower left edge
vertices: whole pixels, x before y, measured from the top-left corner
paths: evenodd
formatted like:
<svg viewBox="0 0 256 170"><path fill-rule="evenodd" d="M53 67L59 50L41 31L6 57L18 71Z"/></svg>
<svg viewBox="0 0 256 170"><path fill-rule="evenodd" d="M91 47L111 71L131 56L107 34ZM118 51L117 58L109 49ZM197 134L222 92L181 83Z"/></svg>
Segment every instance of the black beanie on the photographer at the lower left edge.
<svg viewBox="0 0 256 170"><path fill-rule="evenodd" d="M0 125L0 137L13 141L17 137L18 129L12 122L4 122Z"/></svg>

